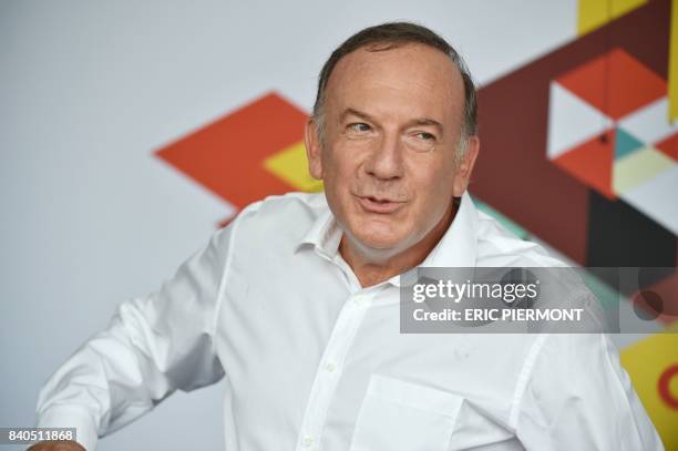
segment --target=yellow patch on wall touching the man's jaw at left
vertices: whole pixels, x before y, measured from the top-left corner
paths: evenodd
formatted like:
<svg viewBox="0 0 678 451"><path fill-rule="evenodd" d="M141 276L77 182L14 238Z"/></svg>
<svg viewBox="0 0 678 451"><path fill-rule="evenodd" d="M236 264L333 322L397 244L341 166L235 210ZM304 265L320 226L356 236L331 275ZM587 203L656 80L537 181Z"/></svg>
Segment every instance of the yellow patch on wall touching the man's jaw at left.
<svg viewBox="0 0 678 451"><path fill-rule="evenodd" d="M308 172L306 146L300 141L264 160L264 167L296 189L322 191L322 181L311 177Z"/></svg>

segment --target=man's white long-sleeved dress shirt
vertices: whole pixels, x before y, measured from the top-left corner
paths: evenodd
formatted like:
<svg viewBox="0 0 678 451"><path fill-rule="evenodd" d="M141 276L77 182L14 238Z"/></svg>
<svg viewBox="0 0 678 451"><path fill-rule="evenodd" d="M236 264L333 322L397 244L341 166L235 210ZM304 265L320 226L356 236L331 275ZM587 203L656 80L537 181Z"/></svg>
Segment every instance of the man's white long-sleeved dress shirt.
<svg viewBox="0 0 678 451"><path fill-rule="evenodd" d="M322 194L243 211L123 303L40 392L38 424L103 437L225 378L227 451L662 450L602 334L400 334L399 277L362 288ZM468 194L422 266L562 266Z"/></svg>

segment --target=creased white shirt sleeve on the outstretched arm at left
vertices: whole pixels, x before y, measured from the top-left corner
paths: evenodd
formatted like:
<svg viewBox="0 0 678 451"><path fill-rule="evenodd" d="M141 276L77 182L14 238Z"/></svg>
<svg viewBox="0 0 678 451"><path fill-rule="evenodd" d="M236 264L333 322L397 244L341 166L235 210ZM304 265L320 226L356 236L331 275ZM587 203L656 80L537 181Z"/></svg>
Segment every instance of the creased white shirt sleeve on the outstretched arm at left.
<svg viewBox="0 0 678 451"><path fill-rule="evenodd" d="M74 427L76 441L93 451L97 438L175 390L224 376L214 334L234 223L216 232L160 290L122 303L109 328L50 377L38 399L39 427Z"/></svg>

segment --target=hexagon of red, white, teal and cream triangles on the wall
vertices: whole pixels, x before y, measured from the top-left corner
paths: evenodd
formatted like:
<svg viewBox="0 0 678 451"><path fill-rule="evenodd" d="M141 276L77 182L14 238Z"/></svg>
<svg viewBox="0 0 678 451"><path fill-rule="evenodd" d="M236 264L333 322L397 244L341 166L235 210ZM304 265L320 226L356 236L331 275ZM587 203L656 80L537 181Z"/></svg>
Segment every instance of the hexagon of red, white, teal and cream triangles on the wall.
<svg viewBox="0 0 678 451"><path fill-rule="evenodd" d="M678 234L678 126L667 84L623 49L551 83L548 158L609 199Z"/></svg>

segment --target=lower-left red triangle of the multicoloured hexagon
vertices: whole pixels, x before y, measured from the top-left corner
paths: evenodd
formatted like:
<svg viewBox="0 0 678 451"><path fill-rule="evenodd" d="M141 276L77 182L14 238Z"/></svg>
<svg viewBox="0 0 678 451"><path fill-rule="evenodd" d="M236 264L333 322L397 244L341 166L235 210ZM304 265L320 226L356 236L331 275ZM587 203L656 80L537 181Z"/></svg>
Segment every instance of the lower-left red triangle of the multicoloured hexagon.
<svg viewBox="0 0 678 451"><path fill-rule="evenodd" d="M585 185L593 187L610 201L617 198L612 187L613 163L615 158L615 133L605 132L567 151L554 160L569 174Z"/></svg>

